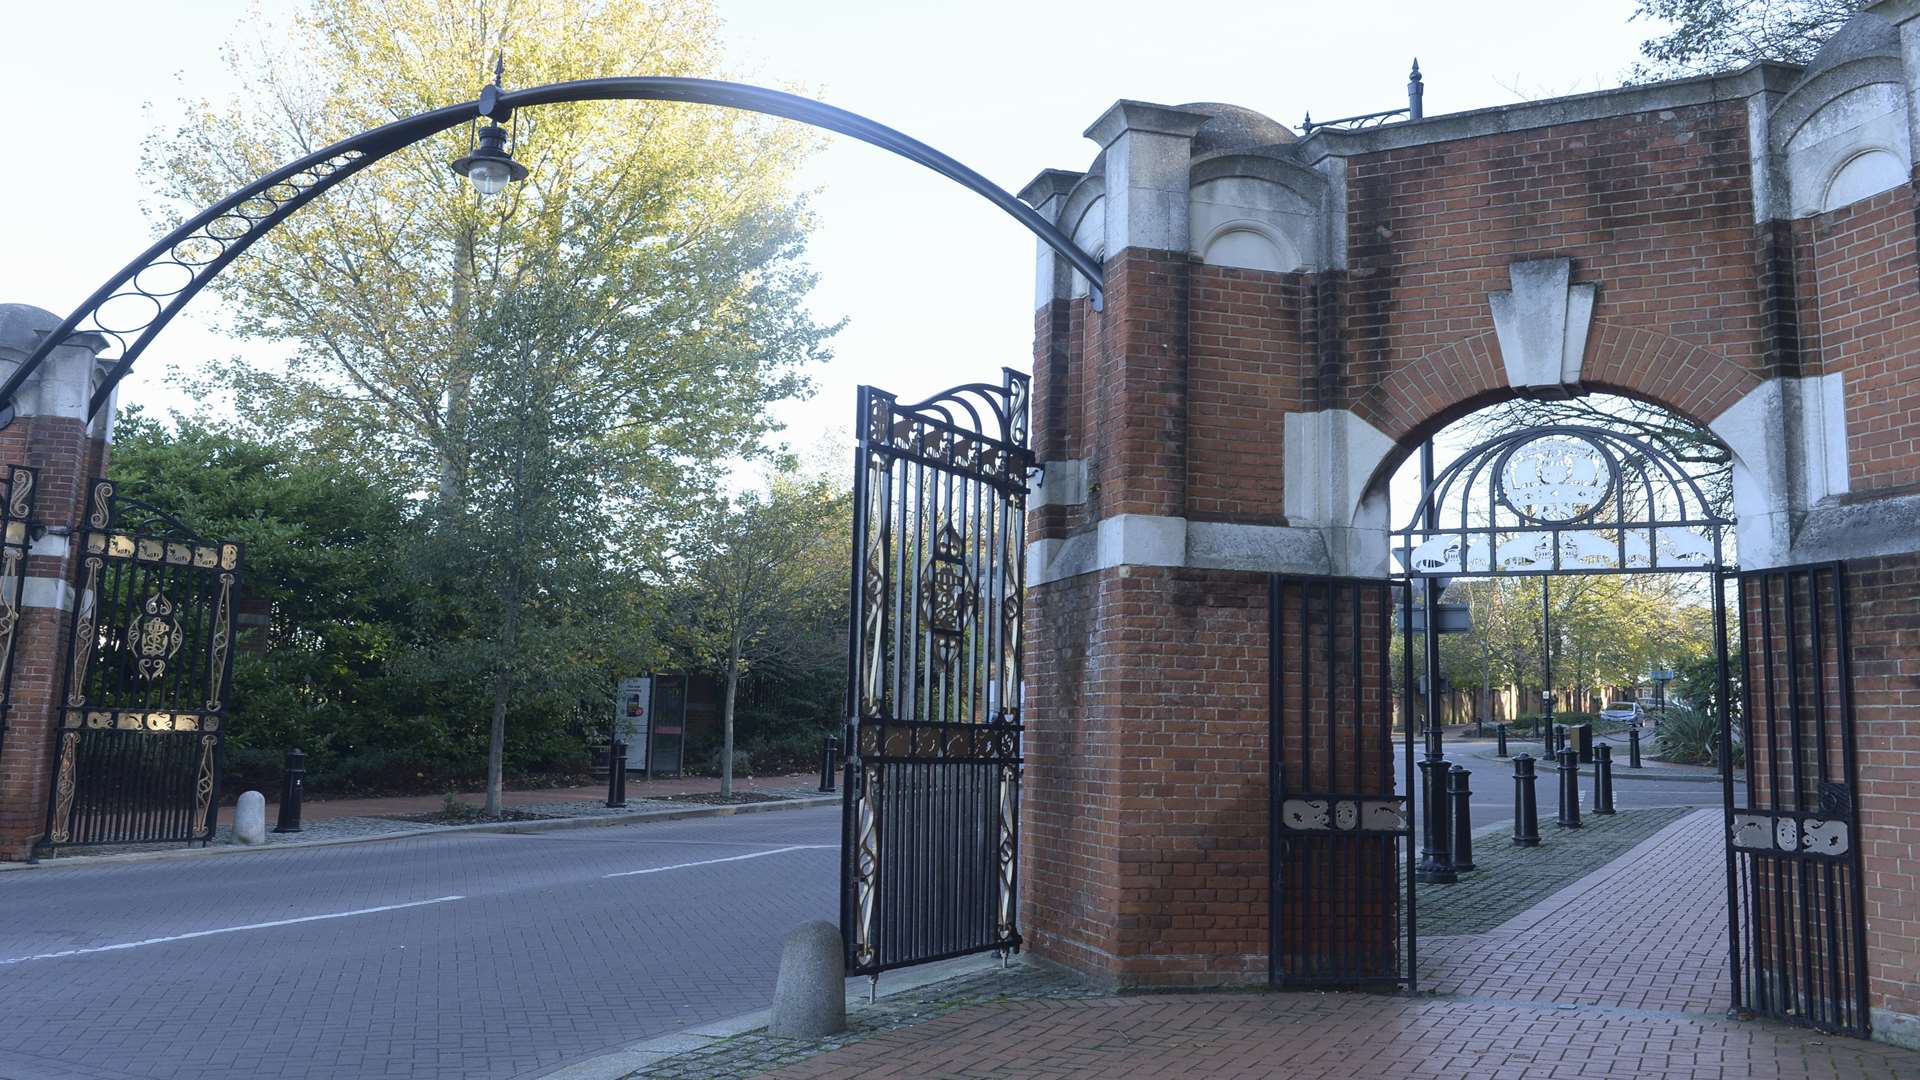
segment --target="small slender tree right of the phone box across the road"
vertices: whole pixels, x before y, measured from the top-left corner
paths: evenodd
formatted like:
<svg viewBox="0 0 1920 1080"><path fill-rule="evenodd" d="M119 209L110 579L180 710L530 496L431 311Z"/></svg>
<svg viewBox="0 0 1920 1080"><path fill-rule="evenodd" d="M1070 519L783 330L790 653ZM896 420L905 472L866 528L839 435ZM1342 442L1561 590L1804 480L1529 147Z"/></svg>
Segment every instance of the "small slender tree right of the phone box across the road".
<svg viewBox="0 0 1920 1080"><path fill-rule="evenodd" d="M708 507L689 544L684 607L693 650L724 680L720 792L733 794L733 705L756 667L820 667L845 650L852 496L778 479ZM831 626L831 630L828 630ZM828 632L822 632L828 630Z"/></svg>

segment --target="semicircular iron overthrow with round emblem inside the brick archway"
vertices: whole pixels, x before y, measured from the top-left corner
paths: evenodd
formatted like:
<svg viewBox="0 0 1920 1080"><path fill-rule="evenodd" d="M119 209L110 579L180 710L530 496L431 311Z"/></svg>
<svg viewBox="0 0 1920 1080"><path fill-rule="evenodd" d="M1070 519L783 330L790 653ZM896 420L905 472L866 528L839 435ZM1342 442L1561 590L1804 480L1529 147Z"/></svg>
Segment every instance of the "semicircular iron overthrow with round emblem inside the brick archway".
<svg viewBox="0 0 1920 1080"><path fill-rule="evenodd" d="M1455 457L1392 532L1407 577L1722 571L1726 527L1653 440L1582 425L1494 436Z"/></svg>

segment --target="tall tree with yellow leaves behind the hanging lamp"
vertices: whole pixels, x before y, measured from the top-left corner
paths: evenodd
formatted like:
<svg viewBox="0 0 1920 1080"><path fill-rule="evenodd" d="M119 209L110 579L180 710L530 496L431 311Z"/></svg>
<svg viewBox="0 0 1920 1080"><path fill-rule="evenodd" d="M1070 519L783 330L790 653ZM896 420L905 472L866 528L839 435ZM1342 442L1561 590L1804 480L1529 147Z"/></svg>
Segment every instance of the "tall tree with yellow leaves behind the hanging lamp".
<svg viewBox="0 0 1920 1080"><path fill-rule="evenodd" d="M315 0L280 50L230 50L230 102L190 106L146 175L182 209L326 142L468 100L505 52L515 83L716 75L710 4ZM286 371L211 388L273 432L403 475L459 509L472 471L476 348L516 294L566 296L541 352L595 357L574 390L605 438L666 475L753 446L766 405L824 357L789 194L810 135L751 113L588 102L522 110L532 175L495 202L447 169L472 133L411 146L309 204L219 279L232 329L296 344ZM563 311L545 306L543 311ZM520 323L520 329L528 327Z"/></svg>

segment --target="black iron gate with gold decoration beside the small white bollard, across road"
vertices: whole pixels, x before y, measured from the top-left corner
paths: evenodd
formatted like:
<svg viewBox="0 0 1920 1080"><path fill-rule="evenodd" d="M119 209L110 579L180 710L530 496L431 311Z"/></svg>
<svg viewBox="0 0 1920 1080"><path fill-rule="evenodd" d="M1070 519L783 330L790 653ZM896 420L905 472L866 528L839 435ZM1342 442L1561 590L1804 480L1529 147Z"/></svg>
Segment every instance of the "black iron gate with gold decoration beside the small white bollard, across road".
<svg viewBox="0 0 1920 1080"><path fill-rule="evenodd" d="M240 565L240 544L92 482L48 847L213 838Z"/></svg>

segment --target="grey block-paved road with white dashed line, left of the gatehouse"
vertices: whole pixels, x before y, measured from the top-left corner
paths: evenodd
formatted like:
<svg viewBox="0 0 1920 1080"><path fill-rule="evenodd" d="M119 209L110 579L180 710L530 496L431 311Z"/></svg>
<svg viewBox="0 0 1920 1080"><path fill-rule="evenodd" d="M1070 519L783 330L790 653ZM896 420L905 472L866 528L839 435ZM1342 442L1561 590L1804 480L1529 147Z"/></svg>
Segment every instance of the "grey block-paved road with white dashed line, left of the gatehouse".
<svg viewBox="0 0 1920 1080"><path fill-rule="evenodd" d="M839 809L0 872L0 1078L540 1076L764 1007Z"/></svg>

